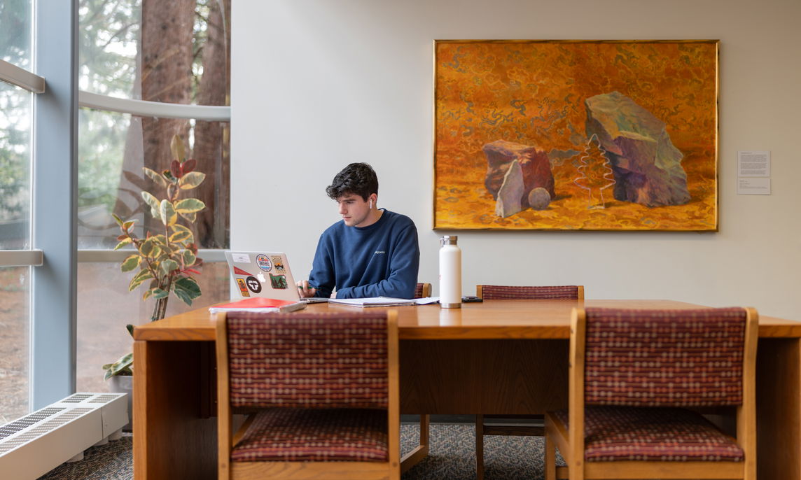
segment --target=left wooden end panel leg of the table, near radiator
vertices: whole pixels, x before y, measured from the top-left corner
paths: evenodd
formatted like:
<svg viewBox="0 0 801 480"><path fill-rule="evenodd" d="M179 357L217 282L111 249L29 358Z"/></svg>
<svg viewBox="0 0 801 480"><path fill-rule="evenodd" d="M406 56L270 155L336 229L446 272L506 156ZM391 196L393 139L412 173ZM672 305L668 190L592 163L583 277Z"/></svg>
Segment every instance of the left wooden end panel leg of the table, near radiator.
<svg viewBox="0 0 801 480"><path fill-rule="evenodd" d="M217 477L210 349L213 342L134 342L136 480Z"/></svg>

